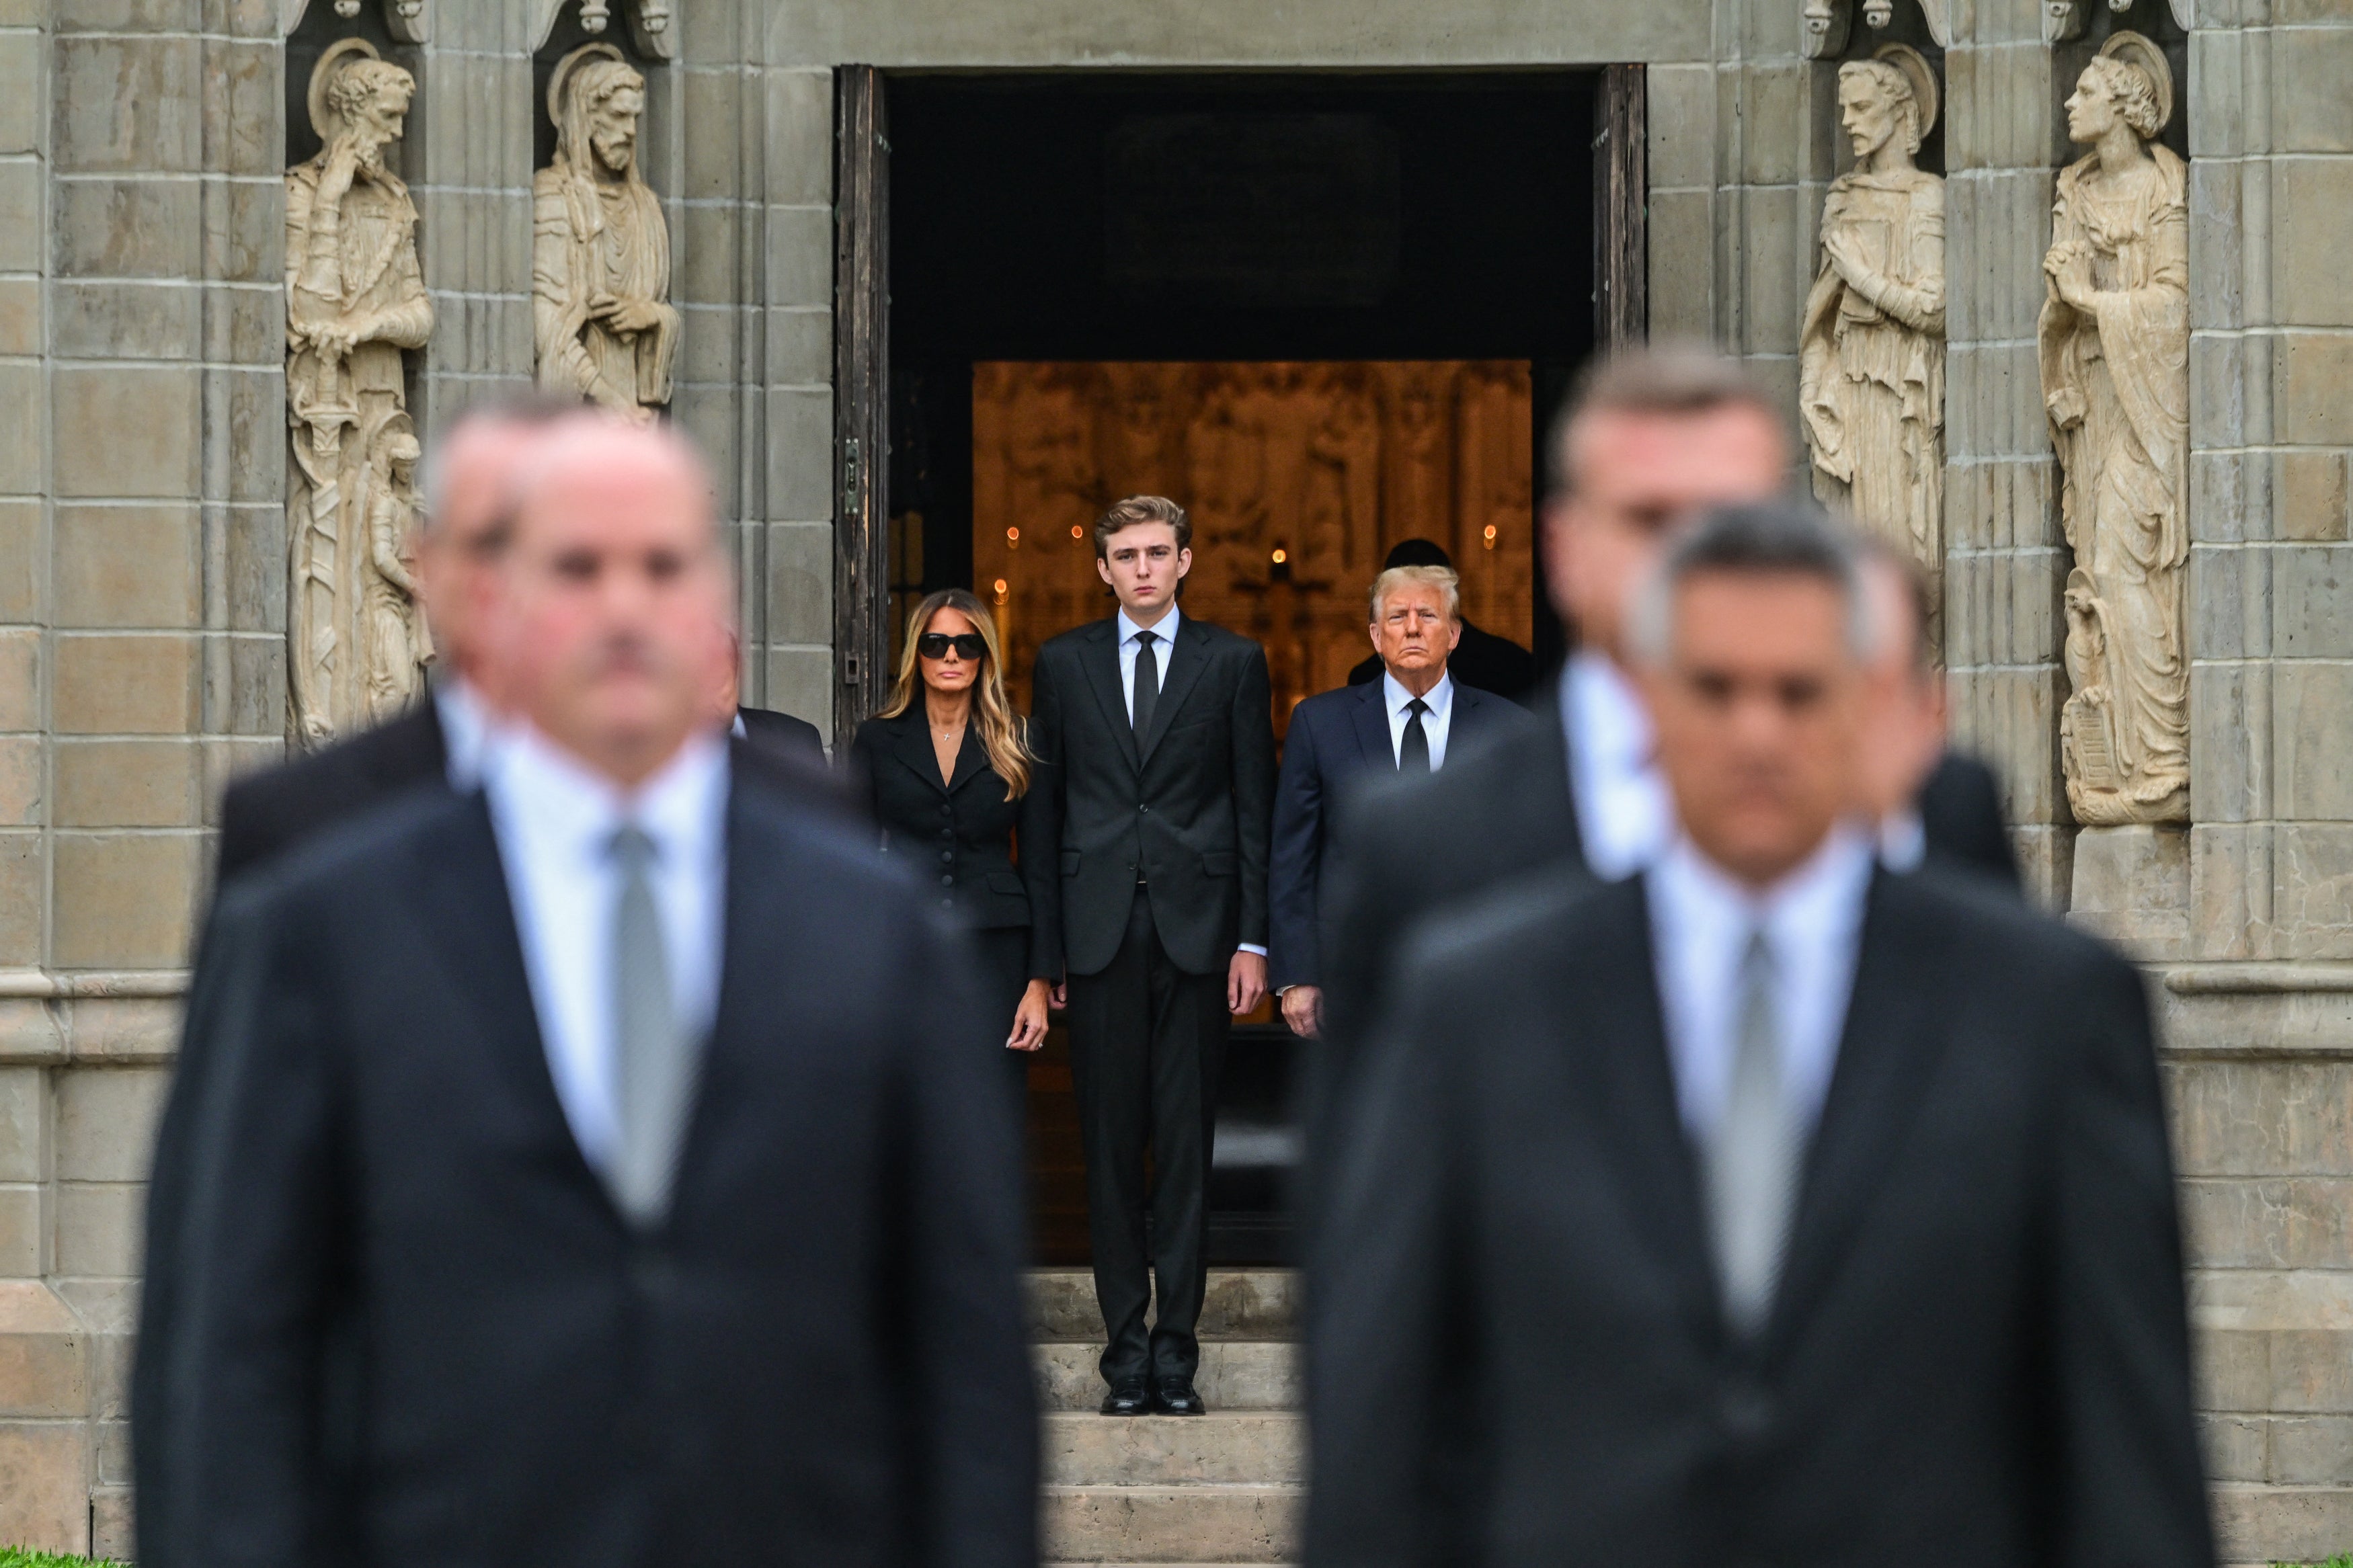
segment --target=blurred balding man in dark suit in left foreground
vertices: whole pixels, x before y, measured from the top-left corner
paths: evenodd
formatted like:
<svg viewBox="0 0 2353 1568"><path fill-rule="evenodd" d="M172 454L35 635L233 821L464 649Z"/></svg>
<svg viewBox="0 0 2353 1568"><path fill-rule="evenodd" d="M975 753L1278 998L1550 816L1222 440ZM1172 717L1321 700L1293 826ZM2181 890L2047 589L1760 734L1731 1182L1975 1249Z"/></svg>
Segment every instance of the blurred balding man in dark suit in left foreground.
<svg viewBox="0 0 2353 1568"><path fill-rule="evenodd" d="M1035 1563L995 1041L915 893L729 762L701 465L551 437L499 578L482 792L233 893L261 957L151 1237L172 1561Z"/></svg>

